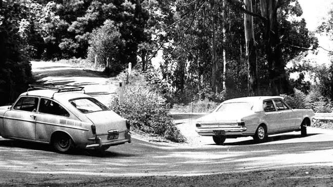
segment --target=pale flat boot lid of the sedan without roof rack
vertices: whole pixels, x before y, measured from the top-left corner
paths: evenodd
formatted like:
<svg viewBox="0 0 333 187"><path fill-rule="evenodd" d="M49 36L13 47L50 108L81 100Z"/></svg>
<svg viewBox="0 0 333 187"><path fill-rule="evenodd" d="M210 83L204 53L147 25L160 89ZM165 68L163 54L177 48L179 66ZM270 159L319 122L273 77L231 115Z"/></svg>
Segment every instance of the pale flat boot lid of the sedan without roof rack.
<svg viewBox="0 0 333 187"><path fill-rule="evenodd" d="M240 122L243 117L251 114L254 114L254 112L213 112L197 119L197 123Z"/></svg>

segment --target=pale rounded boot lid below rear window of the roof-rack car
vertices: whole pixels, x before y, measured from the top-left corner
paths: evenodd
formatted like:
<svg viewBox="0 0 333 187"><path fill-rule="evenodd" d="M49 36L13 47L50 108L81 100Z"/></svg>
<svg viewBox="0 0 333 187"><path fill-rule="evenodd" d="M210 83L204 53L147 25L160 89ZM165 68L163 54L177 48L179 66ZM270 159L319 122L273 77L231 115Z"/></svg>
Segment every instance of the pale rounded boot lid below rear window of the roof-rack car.
<svg viewBox="0 0 333 187"><path fill-rule="evenodd" d="M86 114L96 126L97 134L107 134L109 130L126 130L126 119L112 110L99 111Z"/></svg>

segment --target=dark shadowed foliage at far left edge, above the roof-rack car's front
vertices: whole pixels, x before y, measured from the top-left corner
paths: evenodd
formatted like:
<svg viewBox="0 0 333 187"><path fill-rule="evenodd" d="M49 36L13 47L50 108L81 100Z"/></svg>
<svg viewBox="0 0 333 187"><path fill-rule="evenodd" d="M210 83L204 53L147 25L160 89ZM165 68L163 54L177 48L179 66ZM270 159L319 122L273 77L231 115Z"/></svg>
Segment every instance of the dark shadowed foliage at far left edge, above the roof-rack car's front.
<svg viewBox="0 0 333 187"><path fill-rule="evenodd" d="M0 2L0 104L14 101L32 81L24 51L28 47L25 26L20 25L28 19L28 7L29 1Z"/></svg>

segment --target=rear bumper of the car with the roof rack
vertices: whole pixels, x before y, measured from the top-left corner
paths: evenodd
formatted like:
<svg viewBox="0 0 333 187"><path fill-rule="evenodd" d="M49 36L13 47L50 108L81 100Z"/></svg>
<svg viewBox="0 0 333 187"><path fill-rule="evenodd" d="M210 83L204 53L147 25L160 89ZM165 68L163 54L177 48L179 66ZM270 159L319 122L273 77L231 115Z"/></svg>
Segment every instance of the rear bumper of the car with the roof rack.
<svg viewBox="0 0 333 187"><path fill-rule="evenodd" d="M106 146L116 146L119 144L123 144L123 143L130 143L132 141L131 135L129 134L129 130L127 130L125 132L125 139L114 139L114 140L104 140L105 138L101 138L99 136L93 137L93 138L89 138L89 140L94 141L94 143L92 144L88 144L86 146L86 149L92 149L92 148L102 148L102 147L106 147Z"/></svg>

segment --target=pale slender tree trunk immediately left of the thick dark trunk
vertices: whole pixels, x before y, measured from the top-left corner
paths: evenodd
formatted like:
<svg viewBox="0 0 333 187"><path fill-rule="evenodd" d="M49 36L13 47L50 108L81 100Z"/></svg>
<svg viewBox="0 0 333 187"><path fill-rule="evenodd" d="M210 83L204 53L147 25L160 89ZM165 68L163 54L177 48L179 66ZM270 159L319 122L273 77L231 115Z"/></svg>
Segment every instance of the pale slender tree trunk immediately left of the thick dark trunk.
<svg viewBox="0 0 333 187"><path fill-rule="evenodd" d="M252 1L244 0L245 8L252 12ZM246 62L248 66L248 95L258 95L257 50L254 40L253 17L244 13L244 31L246 42Z"/></svg>

